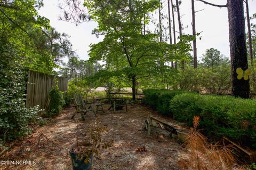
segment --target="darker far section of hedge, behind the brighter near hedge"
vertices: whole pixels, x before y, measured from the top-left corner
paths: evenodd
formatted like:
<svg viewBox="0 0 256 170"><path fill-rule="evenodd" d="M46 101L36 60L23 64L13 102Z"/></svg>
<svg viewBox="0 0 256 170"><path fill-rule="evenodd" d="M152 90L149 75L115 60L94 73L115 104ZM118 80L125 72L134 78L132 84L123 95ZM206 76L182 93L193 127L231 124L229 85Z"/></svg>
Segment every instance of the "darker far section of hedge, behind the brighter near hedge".
<svg viewBox="0 0 256 170"><path fill-rule="evenodd" d="M165 115L172 115L172 111L170 110L170 100L177 94L185 93L185 91L180 90L156 90L156 89L148 89L143 90L145 98L143 102L154 107L157 111L161 112Z"/></svg>

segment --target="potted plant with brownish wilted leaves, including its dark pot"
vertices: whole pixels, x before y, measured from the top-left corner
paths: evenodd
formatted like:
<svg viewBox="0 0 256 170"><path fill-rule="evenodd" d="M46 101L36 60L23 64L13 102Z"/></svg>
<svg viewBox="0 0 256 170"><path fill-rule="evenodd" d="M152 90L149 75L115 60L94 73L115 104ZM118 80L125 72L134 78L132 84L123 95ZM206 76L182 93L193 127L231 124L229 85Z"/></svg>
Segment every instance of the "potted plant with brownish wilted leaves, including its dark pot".
<svg viewBox="0 0 256 170"><path fill-rule="evenodd" d="M101 149L111 147L112 142L102 142L101 137L103 132L107 132L105 126L99 125L97 121L86 130L84 141L77 142L71 145L69 155L71 157L74 170L91 169L93 154L100 154Z"/></svg>

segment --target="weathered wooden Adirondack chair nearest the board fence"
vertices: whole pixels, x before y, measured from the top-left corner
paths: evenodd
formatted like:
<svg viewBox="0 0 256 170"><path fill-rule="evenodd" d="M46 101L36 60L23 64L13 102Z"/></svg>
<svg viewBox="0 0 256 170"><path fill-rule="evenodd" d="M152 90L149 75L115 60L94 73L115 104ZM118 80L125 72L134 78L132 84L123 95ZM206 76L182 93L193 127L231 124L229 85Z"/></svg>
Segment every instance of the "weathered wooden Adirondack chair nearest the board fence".
<svg viewBox="0 0 256 170"><path fill-rule="evenodd" d="M74 94L74 103L75 103L75 108L76 108L76 111L75 113L73 114L73 116L71 117L71 119L74 119L74 117L76 116L76 114L80 113L81 114L81 117L83 120L85 120L84 118L84 115L89 112L89 111L92 111L93 114L95 116L96 115L96 112L94 111L93 107L92 107L92 103L85 103L84 102L84 99L82 97L81 94ZM88 106L88 107L87 107Z"/></svg>

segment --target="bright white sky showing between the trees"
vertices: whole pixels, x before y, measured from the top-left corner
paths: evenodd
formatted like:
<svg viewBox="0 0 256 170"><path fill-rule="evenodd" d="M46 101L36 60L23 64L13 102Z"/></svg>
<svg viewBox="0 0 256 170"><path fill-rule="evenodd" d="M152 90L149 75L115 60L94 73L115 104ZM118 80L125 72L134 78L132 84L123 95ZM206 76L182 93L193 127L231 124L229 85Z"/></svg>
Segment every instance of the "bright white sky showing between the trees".
<svg viewBox="0 0 256 170"><path fill-rule="evenodd" d="M103 36L97 38L92 35L92 30L97 27L94 21L83 22L76 26L75 23L59 20L61 10L59 9L59 2L62 0L44 0L44 7L38 12L40 15L48 18L50 24L60 33L66 33L70 36L70 42L73 44L73 50L76 50L80 59L88 60L88 51L90 44L95 44L102 41ZM163 13L167 14L167 0L163 2ZM175 0L174 0L175 2ZM207 0L214 4L224 5L226 0ZM245 5L244 5L245 6ZM229 54L229 35L228 35L228 12L226 7L214 7L206 5L202 2L195 1L195 11L203 10L196 13L196 33L201 33L201 40L197 40L197 56L200 59L208 48L217 48L225 56ZM252 16L256 13L256 0L249 0L249 13ZM191 28L191 1L183 0L180 5L180 14L182 15L181 22L184 28L184 34L192 34ZM176 18L175 29L178 29L177 13L174 14ZM246 15L246 13L245 13ZM155 14L158 18L158 13ZM167 25L167 20L164 21ZM254 19L251 21L256 23ZM246 23L247 26L247 23ZM246 27L247 31L247 27ZM178 36L179 33L177 33ZM169 41L168 41L169 42Z"/></svg>

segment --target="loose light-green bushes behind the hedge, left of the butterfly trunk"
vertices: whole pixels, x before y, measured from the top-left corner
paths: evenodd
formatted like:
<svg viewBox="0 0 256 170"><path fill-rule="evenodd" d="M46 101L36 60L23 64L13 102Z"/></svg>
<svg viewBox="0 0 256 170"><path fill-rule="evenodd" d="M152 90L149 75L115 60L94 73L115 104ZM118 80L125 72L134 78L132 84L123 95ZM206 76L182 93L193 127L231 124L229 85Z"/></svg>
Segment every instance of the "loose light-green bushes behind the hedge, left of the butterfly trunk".
<svg viewBox="0 0 256 170"><path fill-rule="evenodd" d="M230 66L221 64L214 68L187 67L176 75L177 86L185 91L201 91L210 94L227 94L231 89Z"/></svg>

